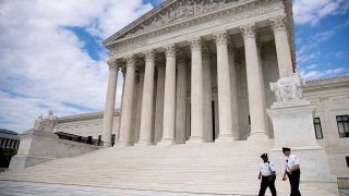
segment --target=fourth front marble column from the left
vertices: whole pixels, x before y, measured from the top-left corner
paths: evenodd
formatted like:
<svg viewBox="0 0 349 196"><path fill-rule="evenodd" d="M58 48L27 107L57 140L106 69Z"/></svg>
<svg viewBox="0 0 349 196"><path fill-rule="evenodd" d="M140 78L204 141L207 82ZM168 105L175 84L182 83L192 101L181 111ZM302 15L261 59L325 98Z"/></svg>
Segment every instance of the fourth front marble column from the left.
<svg viewBox="0 0 349 196"><path fill-rule="evenodd" d="M166 47L164 126L161 144L174 144L176 126L176 47Z"/></svg>

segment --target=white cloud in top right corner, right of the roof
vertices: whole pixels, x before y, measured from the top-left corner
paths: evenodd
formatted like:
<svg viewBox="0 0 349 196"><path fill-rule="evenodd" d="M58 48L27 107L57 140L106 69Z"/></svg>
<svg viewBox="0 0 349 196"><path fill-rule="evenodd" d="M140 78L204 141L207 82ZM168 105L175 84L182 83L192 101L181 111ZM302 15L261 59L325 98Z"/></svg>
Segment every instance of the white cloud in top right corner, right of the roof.
<svg viewBox="0 0 349 196"><path fill-rule="evenodd" d="M294 23L316 25L326 15L345 14L348 8L347 0L294 0Z"/></svg>

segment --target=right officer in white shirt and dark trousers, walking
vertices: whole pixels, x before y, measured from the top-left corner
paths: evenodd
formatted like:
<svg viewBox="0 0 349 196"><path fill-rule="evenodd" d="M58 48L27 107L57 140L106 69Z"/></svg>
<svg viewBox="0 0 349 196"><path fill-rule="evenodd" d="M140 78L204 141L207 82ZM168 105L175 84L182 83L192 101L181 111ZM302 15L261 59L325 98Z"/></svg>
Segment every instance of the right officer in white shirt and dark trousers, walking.
<svg viewBox="0 0 349 196"><path fill-rule="evenodd" d="M292 155L291 149L288 147L282 147L282 152L287 157L282 181L286 181L288 176L291 185L290 196L301 196L301 193L299 192L299 179L301 175L299 158Z"/></svg>

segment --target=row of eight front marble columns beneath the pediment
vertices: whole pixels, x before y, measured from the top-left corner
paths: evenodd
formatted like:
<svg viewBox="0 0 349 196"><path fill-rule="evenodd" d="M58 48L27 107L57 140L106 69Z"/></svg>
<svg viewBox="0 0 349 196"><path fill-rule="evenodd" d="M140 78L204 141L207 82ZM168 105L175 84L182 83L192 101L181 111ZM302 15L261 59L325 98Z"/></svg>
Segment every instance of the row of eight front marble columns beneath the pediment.
<svg viewBox="0 0 349 196"><path fill-rule="evenodd" d="M284 17L272 19L270 24L275 34L277 59L279 70L292 72L292 62L287 30L285 28ZM240 27L244 40L245 63L248 76L248 94L251 118L251 134L249 139L267 138L266 114L265 114L265 93L263 86L262 64L256 46L256 35L254 24L246 24ZM217 79L218 81L218 112L219 112L219 135L217 142L232 142L234 135L239 133L238 120L238 96L236 84L236 71L233 66L234 56L233 46L229 45L226 30L219 30L213 34L217 48ZM207 73L210 74L209 60L203 52L206 52L205 46L200 37L192 37L188 40L191 48L191 136L189 143L204 142L207 124L212 126L212 117L205 115L205 108L210 95L210 81L206 81ZM176 47L170 45L166 48L166 69L158 69L157 90L164 94L157 94L156 98L156 121L155 130L163 133L159 144L173 144L185 142L185 97L186 97L186 69L185 60L178 58L176 62ZM144 86L142 95L142 113L140 125L140 145L152 144L153 130L153 95L154 95L154 73L155 57L154 51L145 53ZM178 65L177 65L178 64ZM229 66L232 64L232 68ZM176 65L178 74L176 78ZM117 61L109 63L109 84L106 99L106 111L104 117L104 140L105 146L111 135L115 93L117 86ZM281 72L281 71L280 71ZM164 74L165 73L165 74ZM132 101L135 77L135 57L127 58L127 75L122 96L122 111L120 120L120 145L131 145L130 133L132 122ZM161 81L165 78L165 87ZM176 83L177 81L177 83ZM209 84L208 84L209 83ZM177 89L177 91L176 91ZM159 100L159 101L158 101ZM164 103L161 102L164 100ZM164 108L163 108L164 106ZM208 105L210 106L210 105ZM234 115L233 115L233 114ZM159 118L163 117L163 118ZM209 121L210 120L210 121ZM209 123L210 122L210 123ZM208 125L208 127L209 127ZM159 130L161 128L161 130ZM182 133L182 134L180 134ZM176 135L177 134L177 135Z"/></svg>

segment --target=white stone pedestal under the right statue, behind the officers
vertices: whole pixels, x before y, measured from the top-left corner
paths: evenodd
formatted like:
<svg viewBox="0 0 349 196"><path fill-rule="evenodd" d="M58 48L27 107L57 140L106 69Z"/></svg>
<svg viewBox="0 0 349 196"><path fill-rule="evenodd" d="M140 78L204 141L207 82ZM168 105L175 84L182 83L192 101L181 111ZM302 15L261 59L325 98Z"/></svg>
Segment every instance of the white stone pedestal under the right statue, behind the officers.
<svg viewBox="0 0 349 196"><path fill-rule="evenodd" d="M317 145L313 125L315 106L305 99L275 102L267 110L274 126L274 148L270 160L285 170L281 148L291 148L291 154L300 158L301 182L306 181L328 191L338 189L337 180L330 174L325 150Z"/></svg>

